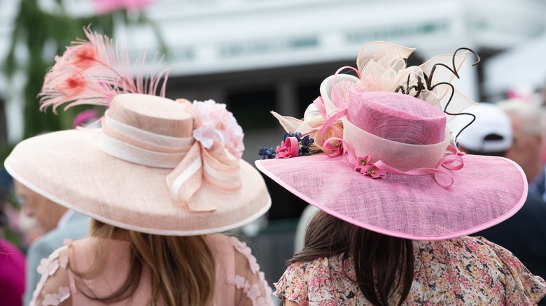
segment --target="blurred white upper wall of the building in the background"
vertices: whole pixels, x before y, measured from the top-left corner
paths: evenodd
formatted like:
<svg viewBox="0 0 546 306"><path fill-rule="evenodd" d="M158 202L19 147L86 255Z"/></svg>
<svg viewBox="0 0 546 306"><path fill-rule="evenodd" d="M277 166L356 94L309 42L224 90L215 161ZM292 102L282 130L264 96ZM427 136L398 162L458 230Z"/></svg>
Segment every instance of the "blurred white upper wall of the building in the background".
<svg viewBox="0 0 546 306"><path fill-rule="evenodd" d="M49 1L49 0L48 0ZM44 0L47 3L46 0ZM0 0L0 59L18 1ZM73 14L92 11L90 0L65 0ZM546 1L540 0L157 0L146 9L167 43L172 77L215 75L276 67L354 60L368 41L416 48L423 59L461 46L505 50L540 35ZM157 48L146 26L118 27L116 38L138 50ZM153 52L150 52L152 55ZM472 59L469 59L472 60ZM333 73L334 71L332 71ZM294 71L297 76L297 71ZM461 71L458 88L478 97L477 71ZM290 75L294 76L294 75ZM324 77L327 75L324 75ZM290 82L279 80L290 101ZM215 91L214 91L215 90ZM209 92L223 96L224 89ZM6 82L0 79L0 94ZM5 94L4 94L5 95ZM285 102L288 103L288 102ZM10 141L17 131L18 101L8 103ZM281 108L290 109L290 105Z"/></svg>

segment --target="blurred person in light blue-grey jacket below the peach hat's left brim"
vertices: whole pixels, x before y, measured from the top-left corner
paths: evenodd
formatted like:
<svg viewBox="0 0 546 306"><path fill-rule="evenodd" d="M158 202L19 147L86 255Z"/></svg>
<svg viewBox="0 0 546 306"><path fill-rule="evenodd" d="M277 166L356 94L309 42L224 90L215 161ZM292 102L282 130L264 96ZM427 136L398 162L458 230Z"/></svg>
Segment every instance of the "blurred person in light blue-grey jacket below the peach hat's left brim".
<svg viewBox="0 0 546 306"><path fill-rule="evenodd" d="M25 305L29 305L32 293L41 278L36 270L41 260L62 247L65 239L77 240L89 235L90 219L50 201L17 180L14 184L22 210L25 210L27 215L35 217L45 232L31 242L27 251Z"/></svg>

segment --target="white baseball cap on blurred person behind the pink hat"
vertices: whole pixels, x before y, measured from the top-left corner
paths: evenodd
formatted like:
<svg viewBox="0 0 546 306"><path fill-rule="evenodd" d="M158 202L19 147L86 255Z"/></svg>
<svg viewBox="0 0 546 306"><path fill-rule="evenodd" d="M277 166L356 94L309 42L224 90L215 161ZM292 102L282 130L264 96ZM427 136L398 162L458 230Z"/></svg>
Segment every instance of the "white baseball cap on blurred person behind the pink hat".
<svg viewBox="0 0 546 306"><path fill-rule="evenodd" d="M512 122L497 105L479 103L467 108L465 112L475 115L476 119L458 136L459 145L467 150L482 153L502 152L510 148L512 145ZM486 139L486 136L489 135L500 137Z"/></svg>

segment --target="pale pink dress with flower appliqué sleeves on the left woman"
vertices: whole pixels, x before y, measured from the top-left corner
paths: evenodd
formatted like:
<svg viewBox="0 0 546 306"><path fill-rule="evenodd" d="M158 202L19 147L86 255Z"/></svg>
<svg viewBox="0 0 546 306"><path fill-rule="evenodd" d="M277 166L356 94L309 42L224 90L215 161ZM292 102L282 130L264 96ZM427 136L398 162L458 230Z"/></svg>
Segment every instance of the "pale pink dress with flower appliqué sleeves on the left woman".
<svg viewBox="0 0 546 306"><path fill-rule="evenodd" d="M207 242L216 261L216 296L214 305L273 305L272 290L265 281L251 249L237 238L207 235ZM86 293L108 296L118 289L130 269L130 244L123 240L85 238L66 241L38 267L41 281L34 291L30 306L41 305L104 305L87 298ZM92 279L82 279L72 270L85 272L95 260L97 247L106 254L104 268ZM69 269L68 267L71 267ZM148 305L151 299L150 272L144 268L137 291L118 303L109 305Z"/></svg>

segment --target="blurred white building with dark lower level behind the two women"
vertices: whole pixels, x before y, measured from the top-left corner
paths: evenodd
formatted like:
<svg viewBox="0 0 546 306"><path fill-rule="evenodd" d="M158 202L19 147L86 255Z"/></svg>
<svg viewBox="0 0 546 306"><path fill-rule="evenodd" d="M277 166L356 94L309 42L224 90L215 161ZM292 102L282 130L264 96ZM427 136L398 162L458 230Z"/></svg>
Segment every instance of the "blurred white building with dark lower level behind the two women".
<svg viewBox="0 0 546 306"><path fill-rule="evenodd" d="M70 15L78 16L96 13L97 3L105 1L37 2L44 9L51 2L62 3ZM514 91L541 99L537 93L546 80L545 0L140 2L151 2L144 14L155 28L114 18L113 37L127 41L136 58L144 47L153 56L160 48L159 32L168 50L165 64L173 67L167 96L228 104L246 132L243 158L250 162L258 158L258 147L282 140L284 132L269 110L302 117L319 96L321 81L341 66L356 66L358 51L370 41L416 48L409 64L451 54L459 47L472 48L482 63L470 68L474 61L470 56L456 86L475 101L495 102ZM0 59L8 54L20 3L0 0ZM126 16L132 16L131 10ZM41 31L41 24L35 30ZM83 31L79 37L85 37ZM25 54L20 57L24 61ZM16 75L8 82L1 72L0 141L14 144L25 135L22 96L17 90L26 86L25 76ZM260 242L264 240L255 244L262 248L258 251L262 256L269 252L290 258L291 249L283 245L290 245L295 228L290 220L297 219L304 204L276 184L269 187L273 197L269 231L277 232L267 244ZM286 234L279 235L283 229ZM280 275L278 266L274 262L265 267L269 279ZM278 272L271 272L276 268Z"/></svg>

